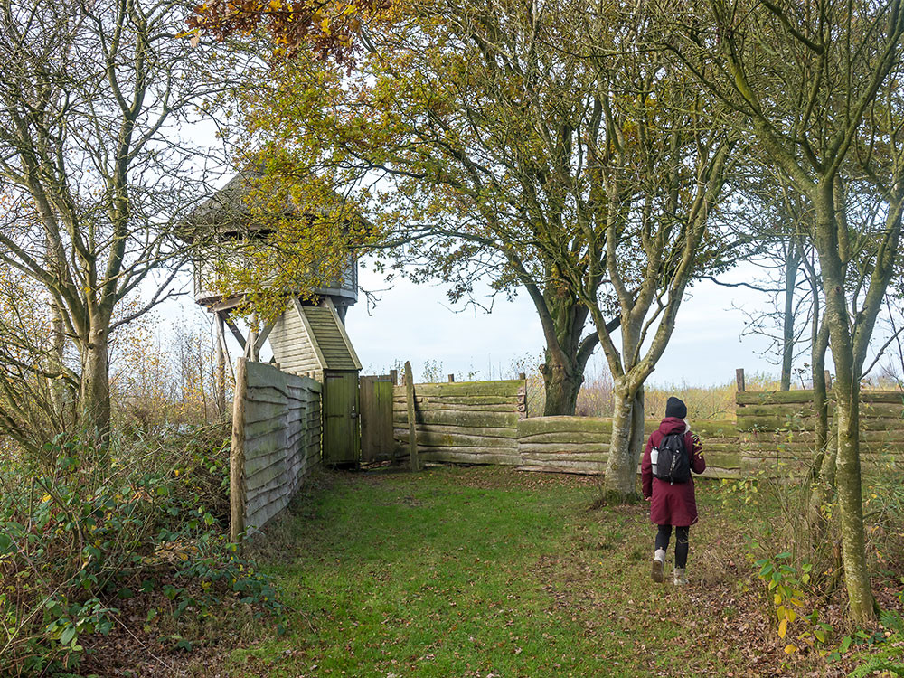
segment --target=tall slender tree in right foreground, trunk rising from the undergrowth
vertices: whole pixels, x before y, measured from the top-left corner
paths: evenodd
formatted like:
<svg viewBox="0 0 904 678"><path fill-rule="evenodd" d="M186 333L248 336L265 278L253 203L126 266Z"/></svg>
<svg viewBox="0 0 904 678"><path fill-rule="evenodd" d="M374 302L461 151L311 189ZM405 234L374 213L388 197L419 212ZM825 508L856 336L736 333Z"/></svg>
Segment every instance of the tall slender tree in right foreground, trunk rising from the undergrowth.
<svg viewBox="0 0 904 678"><path fill-rule="evenodd" d="M871 619L859 393L899 248L904 165L895 82L904 7L711 0L660 12L673 19L664 33L673 53L703 87L738 111L758 145L813 206L808 238L819 259L835 367L844 578L852 617ZM845 175L863 177L862 185L880 196L885 209L879 223L848 220ZM858 257L868 265L861 268L862 286L850 287L848 274Z"/></svg>

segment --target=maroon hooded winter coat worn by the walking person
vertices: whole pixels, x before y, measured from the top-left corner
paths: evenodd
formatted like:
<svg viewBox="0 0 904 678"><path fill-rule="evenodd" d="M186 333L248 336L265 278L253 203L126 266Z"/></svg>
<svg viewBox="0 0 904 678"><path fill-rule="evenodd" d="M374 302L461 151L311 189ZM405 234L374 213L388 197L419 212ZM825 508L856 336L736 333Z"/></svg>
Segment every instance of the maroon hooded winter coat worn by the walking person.
<svg viewBox="0 0 904 678"><path fill-rule="evenodd" d="M702 473L706 470L700 438L692 434L684 419L666 417L659 430L646 441L644 461L640 465L640 478L644 487L644 498L653 497L650 503L650 520L657 525L686 526L697 522L697 502L693 495L693 478L687 483L669 484L653 476L650 450L658 447L663 438L671 433L684 431L684 449L691 452L691 470Z"/></svg>

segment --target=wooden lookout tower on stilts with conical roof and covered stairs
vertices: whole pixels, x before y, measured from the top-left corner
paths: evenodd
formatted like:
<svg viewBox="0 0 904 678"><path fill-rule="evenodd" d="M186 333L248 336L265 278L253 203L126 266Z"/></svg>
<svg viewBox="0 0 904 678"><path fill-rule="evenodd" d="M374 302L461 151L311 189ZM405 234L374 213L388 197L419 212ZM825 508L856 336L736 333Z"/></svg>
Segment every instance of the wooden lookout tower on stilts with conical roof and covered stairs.
<svg viewBox="0 0 904 678"><path fill-rule="evenodd" d="M190 233L186 239L204 243L203 254L195 260L194 296L215 317L218 397L225 406L225 365L229 360L226 330L250 360L259 360L261 349L268 342L273 352L271 360L280 369L312 377L323 384L324 462L335 466L357 464L361 454L358 396L361 363L344 326L348 307L358 300L358 268L354 256L349 255L339 275L306 289L304 295L287 290L285 309L276 320L264 325L259 334L253 331L247 336L242 334L231 317L245 300L241 290L224 296L218 284L212 262L233 251L223 247L227 240L254 238L260 239L263 245L271 232L253 224L249 202L251 192L257 190L256 179L256 174L237 174L199 205L186 230ZM282 216L302 218L293 204L287 204L285 210Z"/></svg>

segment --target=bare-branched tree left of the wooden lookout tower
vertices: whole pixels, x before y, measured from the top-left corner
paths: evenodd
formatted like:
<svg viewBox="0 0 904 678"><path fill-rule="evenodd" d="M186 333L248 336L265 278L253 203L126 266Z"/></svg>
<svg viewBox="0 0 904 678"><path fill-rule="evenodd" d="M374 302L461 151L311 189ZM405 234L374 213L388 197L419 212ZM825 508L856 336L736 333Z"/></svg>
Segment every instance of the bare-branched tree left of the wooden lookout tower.
<svg viewBox="0 0 904 678"><path fill-rule="evenodd" d="M202 186L205 155L175 126L222 87L209 50L177 37L184 16L145 0L0 11L0 261L50 305L53 351L31 372L71 383L78 424L101 443L110 334L171 294L184 260L173 226Z"/></svg>

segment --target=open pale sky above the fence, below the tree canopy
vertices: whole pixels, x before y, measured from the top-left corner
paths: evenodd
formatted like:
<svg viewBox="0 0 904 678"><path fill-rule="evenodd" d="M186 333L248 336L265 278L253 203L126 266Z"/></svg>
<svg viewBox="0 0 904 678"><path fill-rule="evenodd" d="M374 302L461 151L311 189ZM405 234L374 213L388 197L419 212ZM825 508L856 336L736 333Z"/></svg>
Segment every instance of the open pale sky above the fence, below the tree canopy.
<svg viewBox="0 0 904 678"><path fill-rule="evenodd" d="M749 280L753 272L736 269L726 280ZM385 287L381 278L364 268L361 285ZM443 374L468 374L494 378L517 372L518 359L538 363L543 348L540 320L525 294L513 302L497 297L493 312L468 308L456 313L442 285L414 285L395 282L382 292L381 301L368 315L361 296L345 318L349 336L364 366L364 372L386 372L398 361L410 360L416 379L424 363L442 363ZM732 306L761 306L764 296L738 287L720 287L701 282L692 288L678 313L672 341L660 360L651 381L659 384L686 382L710 385L734 381L735 369L773 372L758 353L768 342L762 337L740 339L745 315ZM588 326L589 331L589 326ZM589 364L589 373L606 370L605 357L598 350Z"/></svg>

